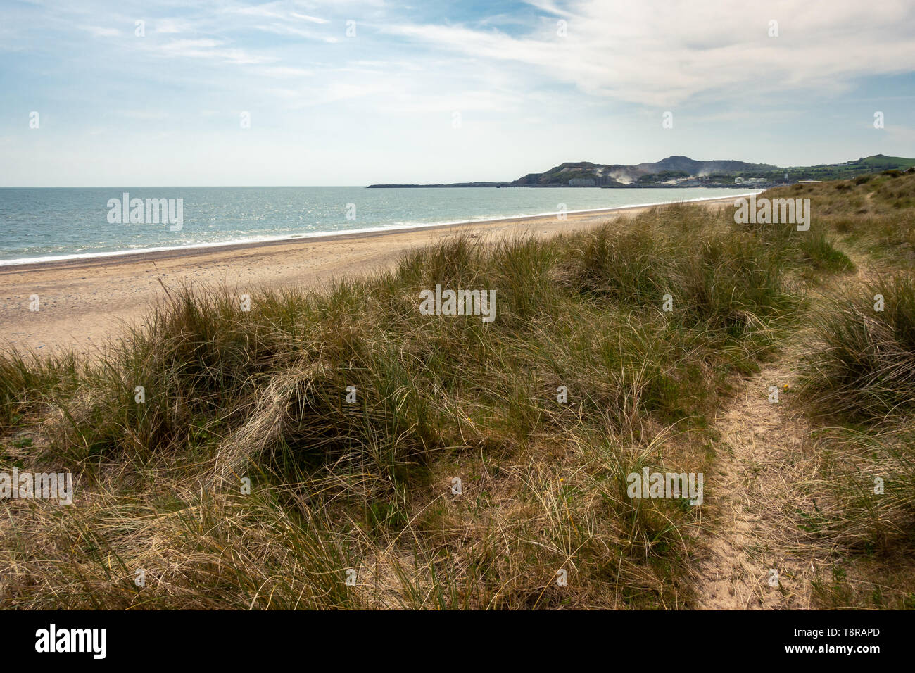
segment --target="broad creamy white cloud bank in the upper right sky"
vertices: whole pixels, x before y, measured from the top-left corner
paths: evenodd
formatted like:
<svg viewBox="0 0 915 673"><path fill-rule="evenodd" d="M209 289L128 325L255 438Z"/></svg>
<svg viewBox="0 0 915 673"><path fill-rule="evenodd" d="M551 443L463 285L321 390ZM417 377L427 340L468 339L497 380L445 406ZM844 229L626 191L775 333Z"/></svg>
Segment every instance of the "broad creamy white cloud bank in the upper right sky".
<svg viewBox="0 0 915 673"><path fill-rule="evenodd" d="M857 0L798 4L700 4L665 0L582 0L565 16L524 35L462 25L400 24L382 32L425 42L483 62L516 66L530 75L571 83L590 95L673 106L704 92L724 99L785 90L841 90L856 77L915 68L915 5ZM769 21L779 37L769 37Z"/></svg>

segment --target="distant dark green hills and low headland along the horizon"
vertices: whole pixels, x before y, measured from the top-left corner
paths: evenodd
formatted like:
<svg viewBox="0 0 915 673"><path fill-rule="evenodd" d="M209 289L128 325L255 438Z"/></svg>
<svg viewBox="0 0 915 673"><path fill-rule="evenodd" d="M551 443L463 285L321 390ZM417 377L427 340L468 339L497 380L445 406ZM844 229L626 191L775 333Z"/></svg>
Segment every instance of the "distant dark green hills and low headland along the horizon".
<svg viewBox="0 0 915 673"><path fill-rule="evenodd" d="M460 182L437 185L370 185L370 187L769 187L802 179L854 178L891 168L915 166L915 159L877 154L842 164L780 168L733 159L700 161L690 157L666 157L634 166L570 161L544 173L528 173L511 182Z"/></svg>

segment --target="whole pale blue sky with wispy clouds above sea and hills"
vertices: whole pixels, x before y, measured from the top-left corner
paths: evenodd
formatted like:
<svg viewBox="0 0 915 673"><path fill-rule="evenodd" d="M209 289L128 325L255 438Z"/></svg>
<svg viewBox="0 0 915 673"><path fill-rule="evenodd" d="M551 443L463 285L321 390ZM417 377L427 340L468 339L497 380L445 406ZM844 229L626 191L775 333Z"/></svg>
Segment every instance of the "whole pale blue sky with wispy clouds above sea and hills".
<svg viewBox="0 0 915 673"><path fill-rule="evenodd" d="M915 157L913 103L911 0L0 0L4 187Z"/></svg>

